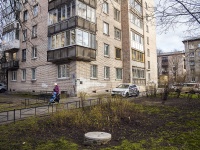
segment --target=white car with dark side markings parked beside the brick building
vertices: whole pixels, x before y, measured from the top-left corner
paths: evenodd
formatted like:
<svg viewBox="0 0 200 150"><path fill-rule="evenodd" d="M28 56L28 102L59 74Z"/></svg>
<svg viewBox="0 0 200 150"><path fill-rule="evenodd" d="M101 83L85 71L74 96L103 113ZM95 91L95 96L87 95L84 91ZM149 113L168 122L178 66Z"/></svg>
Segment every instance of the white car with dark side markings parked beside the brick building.
<svg viewBox="0 0 200 150"><path fill-rule="evenodd" d="M120 84L118 87L112 89L111 95L121 95L123 97L129 97L129 96L138 96L139 95L139 88L135 84L128 84L123 83Z"/></svg>

